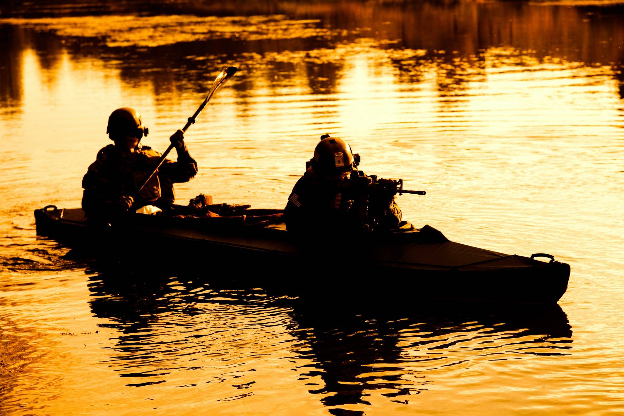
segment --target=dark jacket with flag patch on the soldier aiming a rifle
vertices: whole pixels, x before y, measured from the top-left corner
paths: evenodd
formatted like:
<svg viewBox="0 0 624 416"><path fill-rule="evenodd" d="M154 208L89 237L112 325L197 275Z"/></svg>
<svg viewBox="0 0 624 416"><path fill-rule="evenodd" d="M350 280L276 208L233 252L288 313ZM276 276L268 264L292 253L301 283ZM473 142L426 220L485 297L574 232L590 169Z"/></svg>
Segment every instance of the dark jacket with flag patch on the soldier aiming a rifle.
<svg viewBox="0 0 624 416"><path fill-rule="evenodd" d="M341 193L341 203L336 208L334 201L338 193ZM348 232L371 228L409 229L411 224L402 221L401 217L401 209L394 198L370 201L368 212L362 215L359 207L351 204L344 191L319 181L310 169L296 182L284 209L286 229L306 234L338 234L339 238Z"/></svg>

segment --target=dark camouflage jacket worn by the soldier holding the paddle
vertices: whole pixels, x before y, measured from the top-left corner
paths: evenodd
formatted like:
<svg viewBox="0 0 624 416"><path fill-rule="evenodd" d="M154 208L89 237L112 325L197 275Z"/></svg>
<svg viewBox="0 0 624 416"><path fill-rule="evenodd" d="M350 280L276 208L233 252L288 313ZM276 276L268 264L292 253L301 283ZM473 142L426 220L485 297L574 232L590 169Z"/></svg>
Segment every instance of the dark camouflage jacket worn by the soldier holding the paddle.
<svg viewBox="0 0 624 416"><path fill-rule="evenodd" d="M122 153L113 144L97 152L82 178L84 194L82 209L87 217L110 218L118 215L117 202L122 196L134 196L145 176L162 156L151 147L143 146L132 153ZM188 182L197 174L197 162L184 151L178 152L177 162L165 159L162 166L135 198L136 207L152 204L166 206L175 200L173 184Z"/></svg>

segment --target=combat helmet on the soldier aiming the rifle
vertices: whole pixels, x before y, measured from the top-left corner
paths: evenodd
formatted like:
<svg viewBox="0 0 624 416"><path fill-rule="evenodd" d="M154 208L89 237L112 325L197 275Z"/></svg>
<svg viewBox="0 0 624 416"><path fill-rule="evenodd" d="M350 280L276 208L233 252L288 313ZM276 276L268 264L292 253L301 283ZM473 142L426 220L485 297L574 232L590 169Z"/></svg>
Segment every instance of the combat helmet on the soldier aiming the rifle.
<svg viewBox="0 0 624 416"><path fill-rule="evenodd" d="M343 139L323 134L321 141L314 149L314 157L310 166L319 173L335 173L351 171L359 165L359 154L353 154L351 146Z"/></svg>

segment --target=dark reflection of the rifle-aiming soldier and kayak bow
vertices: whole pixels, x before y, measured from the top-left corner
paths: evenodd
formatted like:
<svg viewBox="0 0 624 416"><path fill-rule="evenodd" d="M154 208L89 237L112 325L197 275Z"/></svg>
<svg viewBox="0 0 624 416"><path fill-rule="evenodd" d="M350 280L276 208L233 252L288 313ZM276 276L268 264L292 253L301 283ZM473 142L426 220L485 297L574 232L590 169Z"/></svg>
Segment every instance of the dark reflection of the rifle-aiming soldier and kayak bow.
<svg viewBox="0 0 624 416"><path fill-rule="evenodd" d="M301 375L323 380L324 385L311 392L323 394L321 401L328 406L384 398L414 404L418 399L410 396L435 390L441 372L446 380L460 379L470 377L469 369L481 362L520 360L524 354L570 354L566 350L571 349L572 332L558 306L463 308L419 305L399 312L401 308L386 305L385 313L365 310L355 317L352 309L338 314L319 314L318 307L307 313L295 309L298 324L309 328L298 334L310 340L311 352L304 356L319 363L318 370ZM495 390L487 387L492 381L480 380L481 388Z"/></svg>

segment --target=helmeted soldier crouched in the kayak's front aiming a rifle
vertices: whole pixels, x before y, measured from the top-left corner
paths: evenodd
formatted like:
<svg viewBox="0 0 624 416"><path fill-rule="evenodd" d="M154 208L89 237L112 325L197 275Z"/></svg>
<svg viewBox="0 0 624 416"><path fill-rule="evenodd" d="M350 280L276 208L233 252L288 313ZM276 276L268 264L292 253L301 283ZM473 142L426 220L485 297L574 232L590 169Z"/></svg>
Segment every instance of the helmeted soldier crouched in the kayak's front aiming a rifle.
<svg viewBox="0 0 624 416"><path fill-rule="evenodd" d="M284 210L286 229L305 234L412 229L394 200L396 187L359 171L359 155L328 134L314 149L305 174L297 181Z"/></svg>

